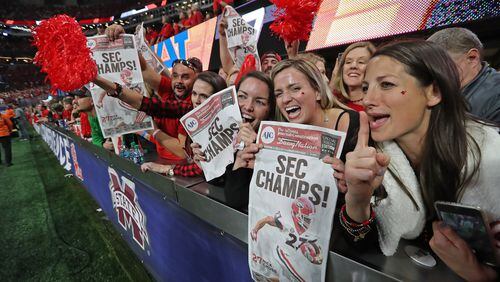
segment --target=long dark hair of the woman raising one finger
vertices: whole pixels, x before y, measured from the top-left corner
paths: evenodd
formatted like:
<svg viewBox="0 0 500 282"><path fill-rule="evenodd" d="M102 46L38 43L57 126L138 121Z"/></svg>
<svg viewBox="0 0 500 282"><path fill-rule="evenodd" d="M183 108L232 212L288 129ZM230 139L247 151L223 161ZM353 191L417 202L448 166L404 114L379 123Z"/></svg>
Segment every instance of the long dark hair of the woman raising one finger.
<svg viewBox="0 0 500 282"><path fill-rule="evenodd" d="M455 63L437 44L417 40L393 42L378 49L372 58L378 56L400 62L420 86L434 85L441 93L441 102L431 109L419 177L422 196L432 217L435 201L458 201L479 171L479 146L466 131L466 123L477 120L466 112L467 103L460 95ZM471 167L467 165L468 156L473 158ZM394 175L393 171L390 173Z"/></svg>

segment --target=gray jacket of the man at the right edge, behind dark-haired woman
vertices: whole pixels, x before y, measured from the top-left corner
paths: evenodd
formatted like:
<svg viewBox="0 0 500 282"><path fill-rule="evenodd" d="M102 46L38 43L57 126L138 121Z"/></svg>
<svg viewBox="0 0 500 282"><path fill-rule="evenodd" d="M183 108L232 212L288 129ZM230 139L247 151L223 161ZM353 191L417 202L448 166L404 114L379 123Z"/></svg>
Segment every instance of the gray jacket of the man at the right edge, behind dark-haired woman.
<svg viewBox="0 0 500 282"><path fill-rule="evenodd" d="M500 124L500 72L483 62L479 74L462 89L475 116Z"/></svg>

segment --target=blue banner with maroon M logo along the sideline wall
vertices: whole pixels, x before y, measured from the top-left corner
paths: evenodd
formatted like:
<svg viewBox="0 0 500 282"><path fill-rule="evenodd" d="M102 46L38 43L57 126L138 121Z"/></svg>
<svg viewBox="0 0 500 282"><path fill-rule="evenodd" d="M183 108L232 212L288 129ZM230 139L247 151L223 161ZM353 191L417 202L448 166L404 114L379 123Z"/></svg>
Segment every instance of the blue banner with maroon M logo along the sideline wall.
<svg viewBox="0 0 500 282"><path fill-rule="evenodd" d="M96 157L86 148L94 146L91 143L82 145L87 141L74 141L45 125L35 126L61 165L73 168L73 174L155 280L251 281L244 243L221 236L220 230L120 165Z"/></svg>

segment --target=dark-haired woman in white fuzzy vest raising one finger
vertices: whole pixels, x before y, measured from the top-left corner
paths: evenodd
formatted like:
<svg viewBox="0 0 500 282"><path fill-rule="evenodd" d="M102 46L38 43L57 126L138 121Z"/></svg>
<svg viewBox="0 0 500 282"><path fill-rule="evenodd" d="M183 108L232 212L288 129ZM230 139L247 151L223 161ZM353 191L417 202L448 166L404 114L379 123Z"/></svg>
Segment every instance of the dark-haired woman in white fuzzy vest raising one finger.
<svg viewBox="0 0 500 282"><path fill-rule="evenodd" d="M466 113L451 58L430 42L387 45L369 61L363 91L366 113L345 164L346 238L386 255L401 238L420 239L465 280L497 279L456 232L432 222L435 201L460 202L481 207L499 229L500 136Z"/></svg>

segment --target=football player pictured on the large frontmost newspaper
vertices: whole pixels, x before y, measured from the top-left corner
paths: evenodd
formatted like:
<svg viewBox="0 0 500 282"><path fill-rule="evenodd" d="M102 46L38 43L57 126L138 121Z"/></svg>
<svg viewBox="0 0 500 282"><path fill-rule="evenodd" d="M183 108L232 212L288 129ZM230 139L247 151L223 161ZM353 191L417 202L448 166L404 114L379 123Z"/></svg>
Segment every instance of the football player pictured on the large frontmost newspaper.
<svg viewBox="0 0 500 282"><path fill-rule="evenodd" d="M282 218L280 211L273 216L266 216L257 221L250 231L250 237L257 246L259 236L275 236L265 241L276 242L272 248L272 258L262 258L255 253L252 254L252 264L259 273L253 272L257 281L308 281L302 277L301 269L307 264L319 265L323 262L321 248L317 245L317 238L309 234L308 230L313 222L316 209L313 203L305 197L299 197L292 202L290 217L293 226ZM271 233L264 229L266 225L276 227L279 233ZM259 235L259 232L261 235ZM262 234L264 232L264 234ZM268 234L266 234L268 233ZM279 236L279 237L278 237ZM321 275L321 272L315 272ZM257 274L257 275L255 275ZM260 280L262 278L262 280ZM318 281L321 277L311 277L311 281Z"/></svg>

